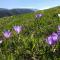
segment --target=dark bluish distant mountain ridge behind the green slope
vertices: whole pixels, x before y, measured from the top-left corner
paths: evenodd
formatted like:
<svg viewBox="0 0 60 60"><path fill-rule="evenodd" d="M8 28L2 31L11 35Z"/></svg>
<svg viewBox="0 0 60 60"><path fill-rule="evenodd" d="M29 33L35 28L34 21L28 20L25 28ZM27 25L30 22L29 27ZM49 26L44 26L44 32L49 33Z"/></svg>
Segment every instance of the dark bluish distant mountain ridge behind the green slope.
<svg viewBox="0 0 60 60"><path fill-rule="evenodd" d="M24 14L24 13L31 13L34 12L33 9L4 9L0 8L0 18L6 16L12 16L16 14Z"/></svg>

